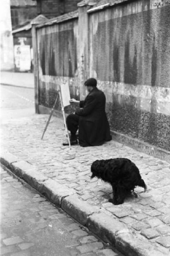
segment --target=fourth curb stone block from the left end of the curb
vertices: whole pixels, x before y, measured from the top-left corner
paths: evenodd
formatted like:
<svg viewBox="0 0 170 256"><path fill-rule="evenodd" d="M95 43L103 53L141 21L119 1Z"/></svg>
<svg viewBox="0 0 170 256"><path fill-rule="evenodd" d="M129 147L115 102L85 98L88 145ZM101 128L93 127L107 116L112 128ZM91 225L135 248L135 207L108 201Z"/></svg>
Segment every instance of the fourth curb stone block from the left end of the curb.
<svg viewBox="0 0 170 256"><path fill-rule="evenodd" d="M63 198L75 193L74 189L69 189L67 186L57 183L52 179L45 180L39 192L59 207L61 207Z"/></svg>

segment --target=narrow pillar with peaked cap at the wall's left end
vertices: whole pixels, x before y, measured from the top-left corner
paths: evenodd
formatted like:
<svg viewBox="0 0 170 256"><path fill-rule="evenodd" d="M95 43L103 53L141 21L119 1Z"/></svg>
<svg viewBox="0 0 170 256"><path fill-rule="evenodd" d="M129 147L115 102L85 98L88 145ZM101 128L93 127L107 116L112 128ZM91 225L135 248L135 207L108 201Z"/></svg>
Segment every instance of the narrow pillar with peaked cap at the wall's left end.
<svg viewBox="0 0 170 256"><path fill-rule="evenodd" d="M37 30L36 25L45 23L48 19L39 15L31 21L31 34L32 34L32 48L33 48L33 61L34 61L34 99L35 99L35 113L39 111L39 67L38 67L38 46L37 46Z"/></svg>

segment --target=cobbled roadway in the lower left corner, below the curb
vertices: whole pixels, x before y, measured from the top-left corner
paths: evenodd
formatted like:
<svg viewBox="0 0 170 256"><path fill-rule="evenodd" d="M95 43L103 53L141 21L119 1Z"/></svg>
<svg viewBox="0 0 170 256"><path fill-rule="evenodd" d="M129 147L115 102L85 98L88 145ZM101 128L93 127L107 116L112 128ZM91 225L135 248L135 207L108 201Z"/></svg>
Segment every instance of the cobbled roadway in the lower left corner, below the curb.
<svg viewBox="0 0 170 256"><path fill-rule="evenodd" d="M121 256L1 169L1 250L6 256Z"/></svg>

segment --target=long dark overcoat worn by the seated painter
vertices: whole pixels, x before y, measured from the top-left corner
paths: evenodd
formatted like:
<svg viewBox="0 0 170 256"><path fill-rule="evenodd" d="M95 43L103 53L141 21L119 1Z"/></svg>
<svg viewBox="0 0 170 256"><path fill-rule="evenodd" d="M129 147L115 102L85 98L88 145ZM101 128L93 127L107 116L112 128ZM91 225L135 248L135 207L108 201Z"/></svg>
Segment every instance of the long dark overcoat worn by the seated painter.
<svg viewBox="0 0 170 256"><path fill-rule="evenodd" d="M97 87L80 101L76 114L79 115L79 145L82 147L102 145L112 139L105 103L105 94Z"/></svg>

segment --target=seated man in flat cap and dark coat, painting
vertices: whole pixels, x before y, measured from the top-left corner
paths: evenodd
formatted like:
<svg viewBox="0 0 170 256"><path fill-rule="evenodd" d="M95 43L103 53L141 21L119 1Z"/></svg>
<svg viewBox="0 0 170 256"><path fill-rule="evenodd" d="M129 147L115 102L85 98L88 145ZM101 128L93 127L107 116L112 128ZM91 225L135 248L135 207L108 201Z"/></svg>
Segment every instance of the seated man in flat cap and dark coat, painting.
<svg viewBox="0 0 170 256"><path fill-rule="evenodd" d="M88 96L85 100L71 99L71 103L79 103L79 109L69 114L66 119L67 128L71 132L71 145L78 144L76 132L78 131L79 145L82 147L102 145L112 139L108 118L105 113L105 94L99 90L97 81L89 78L85 81ZM68 143L63 143L68 145Z"/></svg>

